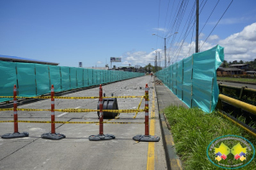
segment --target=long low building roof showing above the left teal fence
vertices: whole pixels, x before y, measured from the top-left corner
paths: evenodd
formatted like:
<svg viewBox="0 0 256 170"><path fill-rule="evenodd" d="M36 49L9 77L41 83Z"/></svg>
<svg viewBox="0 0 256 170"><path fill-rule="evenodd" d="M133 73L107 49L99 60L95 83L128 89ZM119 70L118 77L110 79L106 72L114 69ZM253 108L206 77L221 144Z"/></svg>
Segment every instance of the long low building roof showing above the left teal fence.
<svg viewBox="0 0 256 170"><path fill-rule="evenodd" d="M9 61L9 62L21 62L21 63L37 63L37 64L43 64L43 65L59 65L59 63L52 63L52 62L42 61L37 59L26 59L26 58L9 56L9 55L0 55L0 60Z"/></svg>

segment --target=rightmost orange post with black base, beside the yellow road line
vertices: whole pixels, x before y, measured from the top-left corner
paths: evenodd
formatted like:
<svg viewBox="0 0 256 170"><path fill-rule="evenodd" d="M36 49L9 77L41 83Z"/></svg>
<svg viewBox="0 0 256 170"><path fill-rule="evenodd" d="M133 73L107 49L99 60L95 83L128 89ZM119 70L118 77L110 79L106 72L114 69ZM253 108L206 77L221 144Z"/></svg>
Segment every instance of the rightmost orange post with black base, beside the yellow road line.
<svg viewBox="0 0 256 170"><path fill-rule="evenodd" d="M149 127L148 127L148 84L145 87L145 135L137 134L132 139L136 141L143 141L143 142L159 142L160 137L154 135L149 135Z"/></svg>

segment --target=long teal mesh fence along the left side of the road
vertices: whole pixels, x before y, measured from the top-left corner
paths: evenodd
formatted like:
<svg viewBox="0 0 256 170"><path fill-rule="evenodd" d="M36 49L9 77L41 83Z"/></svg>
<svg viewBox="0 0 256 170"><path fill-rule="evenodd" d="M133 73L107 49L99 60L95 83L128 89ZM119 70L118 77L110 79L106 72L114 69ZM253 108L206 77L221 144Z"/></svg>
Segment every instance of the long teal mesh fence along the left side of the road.
<svg viewBox="0 0 256 170"><path fill-rule="evenodd" d="M100 71L7 61L0 61L0 71L0 96L13 96L16 84L17 95L24 97L49 94L52 84L55 92L61 92L144 75L137 72ZM0 98L0 102L8 100L11 99Z"/></svg>

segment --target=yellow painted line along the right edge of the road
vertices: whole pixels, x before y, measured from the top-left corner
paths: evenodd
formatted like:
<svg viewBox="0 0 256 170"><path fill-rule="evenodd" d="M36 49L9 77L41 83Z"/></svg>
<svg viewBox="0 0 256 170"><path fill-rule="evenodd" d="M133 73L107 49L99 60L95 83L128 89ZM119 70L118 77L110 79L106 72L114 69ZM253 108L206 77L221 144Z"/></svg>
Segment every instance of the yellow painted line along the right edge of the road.
<svg viewBox="0 0 256 170"><path fill-rule="evenodd" d="M154 90L152 90L152 107L151 107L151 119L149 134L154 136ZM154 170L154 142L148 142L148 161L147 161L147 170Z"/></svg>

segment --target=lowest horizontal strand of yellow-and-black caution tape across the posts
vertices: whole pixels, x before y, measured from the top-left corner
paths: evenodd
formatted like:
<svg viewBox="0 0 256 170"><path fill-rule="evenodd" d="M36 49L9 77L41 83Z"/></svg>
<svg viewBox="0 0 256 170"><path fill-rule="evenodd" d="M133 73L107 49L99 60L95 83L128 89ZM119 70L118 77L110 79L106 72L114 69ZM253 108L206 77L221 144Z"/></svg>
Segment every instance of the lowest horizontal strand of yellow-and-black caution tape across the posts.
<svg viewBox="0 0 256 170"><path fill-rule="evenodd" d="M15 121L0 121L0 122L15 122ZM29 122L29 123L51 123L50 121L17 121L17 122ZM62 124L96 124L100 122L58 122L55 121L54 123L62 123ZM143 124L144 122L102 122L102 123L109 123L109 124Z"/></svg>

